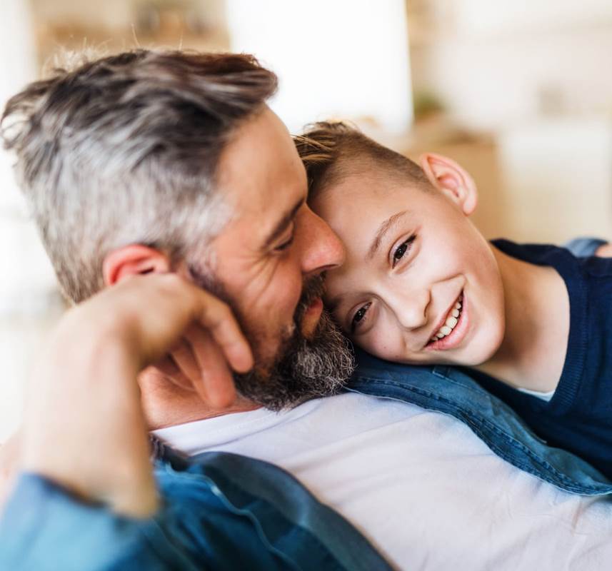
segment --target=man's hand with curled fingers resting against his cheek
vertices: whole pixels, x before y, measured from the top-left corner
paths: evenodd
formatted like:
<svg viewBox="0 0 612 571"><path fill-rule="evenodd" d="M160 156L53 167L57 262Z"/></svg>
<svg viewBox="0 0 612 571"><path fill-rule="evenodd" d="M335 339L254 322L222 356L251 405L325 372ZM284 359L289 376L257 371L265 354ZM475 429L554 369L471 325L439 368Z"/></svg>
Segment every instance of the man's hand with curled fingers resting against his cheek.
<svg viewBox="0 0 612 571"><path fill-rule="evenodd" d="M181 388L196 390L214 408L236 398L231 370L254 360L229 306L176 274L131 276L81 305L80 320L111 315L111 335L123 339L137 368L155 365ZM114 305L114 311L108 308Z"/></svg>

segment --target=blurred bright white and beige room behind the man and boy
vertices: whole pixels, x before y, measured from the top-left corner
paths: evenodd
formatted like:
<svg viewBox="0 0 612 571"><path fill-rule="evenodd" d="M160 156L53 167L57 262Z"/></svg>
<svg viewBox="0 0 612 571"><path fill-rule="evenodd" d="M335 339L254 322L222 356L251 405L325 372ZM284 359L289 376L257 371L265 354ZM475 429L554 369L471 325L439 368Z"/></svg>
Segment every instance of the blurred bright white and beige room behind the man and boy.
<svg viewBox="0 0 612 571"><path fill-rule="evenodd" d="M248 51L279 74L294 133L358 123L412 158L445 153L488 238L612 234L609 0L0 0L0 104L62 49ZM0 153L0 443L64 310Z"/></svg>

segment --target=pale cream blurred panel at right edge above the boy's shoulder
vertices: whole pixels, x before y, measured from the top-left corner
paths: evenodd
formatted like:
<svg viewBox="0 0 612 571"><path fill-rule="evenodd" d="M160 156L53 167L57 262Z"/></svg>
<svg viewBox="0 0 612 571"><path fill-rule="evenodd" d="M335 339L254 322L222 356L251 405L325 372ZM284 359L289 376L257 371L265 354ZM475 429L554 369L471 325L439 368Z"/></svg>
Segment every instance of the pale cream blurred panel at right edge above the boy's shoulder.
<svg viewBox="0 0 612 571"><path fill-rule="evenodd" d="M506 129L499 162L508 237L562 243L612 238L612 121L551 118Z"/></svg>

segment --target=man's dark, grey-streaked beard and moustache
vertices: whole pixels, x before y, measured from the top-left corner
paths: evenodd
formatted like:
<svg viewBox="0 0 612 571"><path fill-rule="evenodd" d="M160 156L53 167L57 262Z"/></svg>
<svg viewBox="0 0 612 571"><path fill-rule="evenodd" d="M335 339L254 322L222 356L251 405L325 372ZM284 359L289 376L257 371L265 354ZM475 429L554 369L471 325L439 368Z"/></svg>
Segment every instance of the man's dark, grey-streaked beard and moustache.
<svg viewBox="0 0 612 571"><path fill-rule="evenodd" d="M218 281L211 280L194 266L189 269L200 287L233 306ZM322 276L304 283L294 313L294 327L281 338L275 357L264 363L258 362L256 326L249 325L244 315L235 313L256 357L255 367L249 373L234 373L236 389L244 398L270 410L283 410L312 398L334 395L346 384L354 368L353 354L348 340L331 316L323 310L316 329L308 338L301 330L306 310L322 293Z"/></svg>

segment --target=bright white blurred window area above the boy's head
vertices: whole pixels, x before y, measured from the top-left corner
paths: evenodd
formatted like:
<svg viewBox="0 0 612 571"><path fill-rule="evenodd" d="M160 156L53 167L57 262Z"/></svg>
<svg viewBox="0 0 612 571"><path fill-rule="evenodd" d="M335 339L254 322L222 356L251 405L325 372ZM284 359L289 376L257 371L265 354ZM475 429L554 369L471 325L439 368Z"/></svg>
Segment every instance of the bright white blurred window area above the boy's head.
<svg viewBox="0 0 612 571"><path fill-rule="evenodd" d="M227 21L232 49L279 74L272 107L291 131L330 117L410 125L403 0L228 0Z"/></svg>

